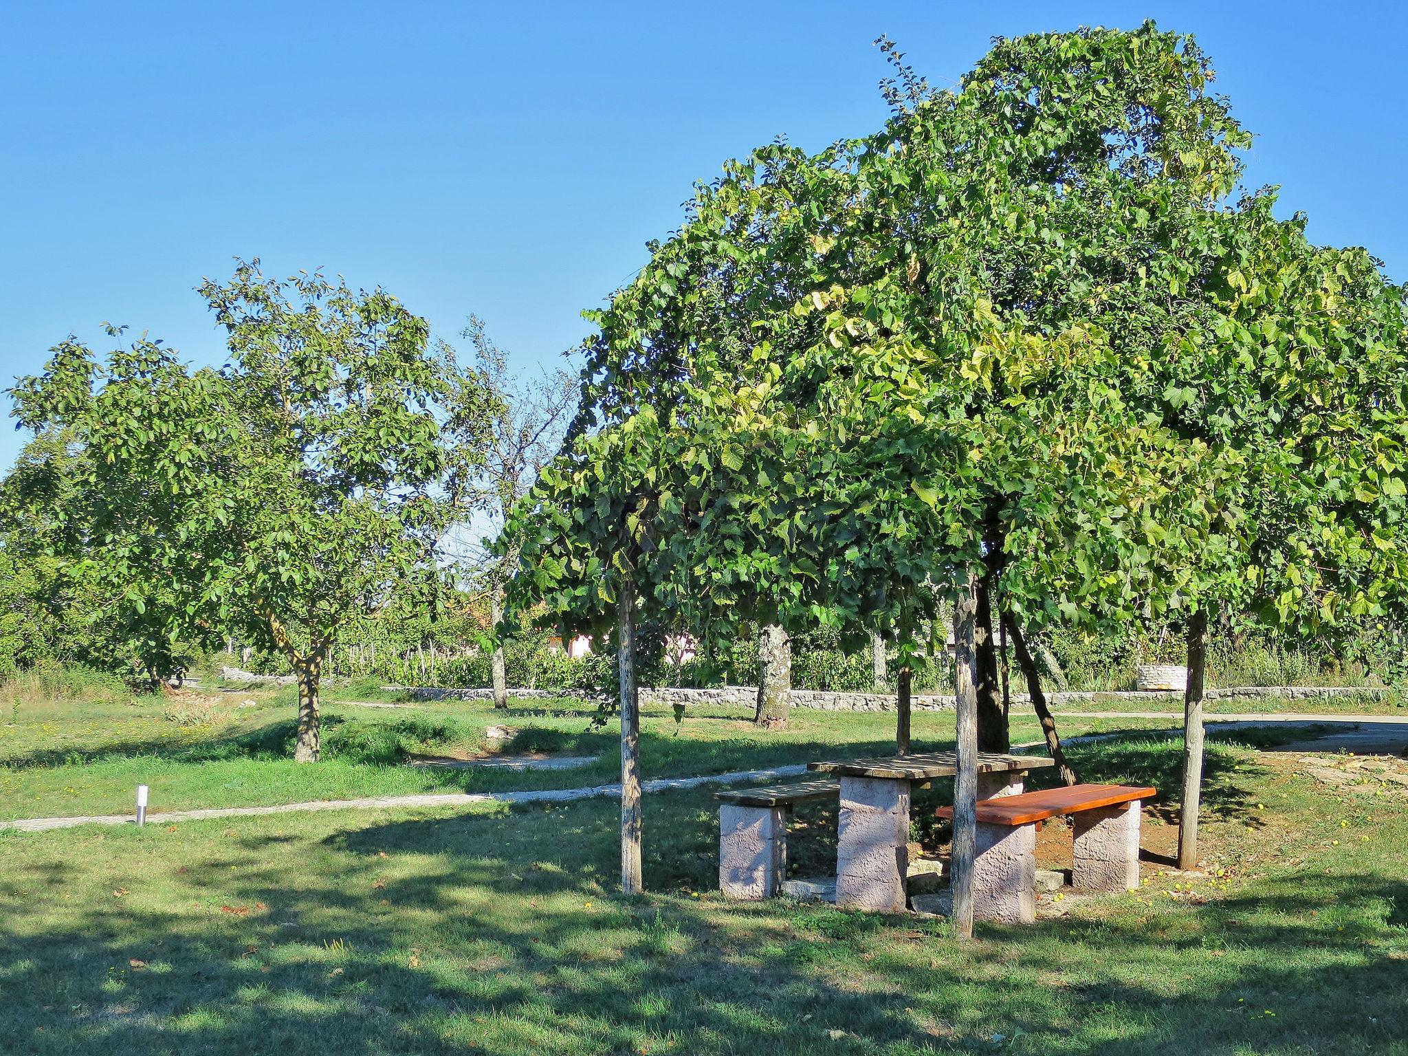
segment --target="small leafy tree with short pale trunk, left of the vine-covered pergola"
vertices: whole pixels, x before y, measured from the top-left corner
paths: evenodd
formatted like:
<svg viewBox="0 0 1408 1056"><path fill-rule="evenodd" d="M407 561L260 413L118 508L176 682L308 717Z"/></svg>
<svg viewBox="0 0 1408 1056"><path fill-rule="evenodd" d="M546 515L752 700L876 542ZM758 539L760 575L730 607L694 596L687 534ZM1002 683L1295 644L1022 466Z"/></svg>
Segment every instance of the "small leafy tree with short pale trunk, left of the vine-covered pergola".
<svg viewBox="0 0 1408 1056"><path fill-rule="evenodd" d="M425 321L382 290L284 283L252 260L200 293L230 338L222 369L145 341L99 366L70 342L20 382L17 413L86 449L82 515L100 545L83 559L125 603L289 660L296 759L314 762L339 629L425 570L441 525L441 363Z"/></svg>

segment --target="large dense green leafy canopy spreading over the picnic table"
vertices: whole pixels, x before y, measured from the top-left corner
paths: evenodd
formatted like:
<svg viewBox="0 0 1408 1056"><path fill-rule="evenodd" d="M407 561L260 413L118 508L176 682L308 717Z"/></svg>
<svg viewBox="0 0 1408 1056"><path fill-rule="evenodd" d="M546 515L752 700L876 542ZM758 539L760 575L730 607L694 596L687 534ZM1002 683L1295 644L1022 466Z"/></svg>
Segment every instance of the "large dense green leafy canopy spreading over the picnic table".
<svg viewBox="0 0 1408 1056"><path fill-rule="evenodd" d="M525 590L604 627L628 565L681 629L903 649L970 565L1033 628L1377 604L1402 291L1240 190L1195 42L998 41L952 92L893 56L884 128L731 162L591 315Z"/></svg>

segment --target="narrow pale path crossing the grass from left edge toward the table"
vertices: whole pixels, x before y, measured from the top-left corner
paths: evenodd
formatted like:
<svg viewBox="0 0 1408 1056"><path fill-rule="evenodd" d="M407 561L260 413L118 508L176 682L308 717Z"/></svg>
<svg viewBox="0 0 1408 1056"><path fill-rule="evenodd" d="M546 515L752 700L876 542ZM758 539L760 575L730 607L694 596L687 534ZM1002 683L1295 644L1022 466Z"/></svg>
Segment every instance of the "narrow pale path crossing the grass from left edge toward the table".
<svg viewBox="0 0 1408 1056"><path fill-rule="evenodd" d="M735 770L734 773L708 774L704 777L662 777L643 781L642 791L658 793L676 788L697 788L701 784L732 784L735 781L773 781L779 777L796 777L807 773L805 765L774 766L769 770ZM148 825L169 825L173 821L203 821L206 818L249 818L265 814L291 814L294 811L337 811L369 810L379 807L463 807L472 803L573 803L597 797L620 796L620 784L597 784L590 788L555 788L551 791L513 793L436 793L424 796L379 796L360 800L320 800L315 803L286 803L276 807L220 807L196 811L166 811L148 814ZM76 825L131 825L131 814L103 814L83 818L21 818L0 822L0 829L20 832L44 832L45 829L68 829Z"/></svg>

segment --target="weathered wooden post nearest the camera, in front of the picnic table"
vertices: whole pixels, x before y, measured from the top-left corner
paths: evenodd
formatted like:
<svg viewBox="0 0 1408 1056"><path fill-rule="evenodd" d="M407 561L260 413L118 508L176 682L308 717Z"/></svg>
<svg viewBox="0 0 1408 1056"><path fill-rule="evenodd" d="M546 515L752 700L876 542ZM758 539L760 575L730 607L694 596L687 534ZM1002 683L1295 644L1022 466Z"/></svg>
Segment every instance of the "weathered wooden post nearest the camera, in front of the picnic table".
<svg viewBox="0 0 1408 1056"><path fill-rule="evenodd" d="M973 938L973 857L977 852L977 596L969 572L953 608L957 774L953 779L953 934Z"/></svg>

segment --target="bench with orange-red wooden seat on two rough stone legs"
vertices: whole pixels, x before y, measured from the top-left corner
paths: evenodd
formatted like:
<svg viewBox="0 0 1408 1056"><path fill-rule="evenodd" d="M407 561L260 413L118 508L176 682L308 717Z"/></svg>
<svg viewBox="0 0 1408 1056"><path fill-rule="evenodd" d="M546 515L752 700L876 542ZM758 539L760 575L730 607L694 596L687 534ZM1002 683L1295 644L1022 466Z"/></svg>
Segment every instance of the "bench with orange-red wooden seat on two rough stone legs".
<svg viewBox="0 0 1408 1056"><path fill-rule="evenodd" d="M1036 919L1036 826L1073 815L1071 887L1131 891L1139 886L1139 810L1157 793L1125 784L1073 784L977 804L973 915L984 921ZM941 807L952 818L952 807Z"/></svg>

